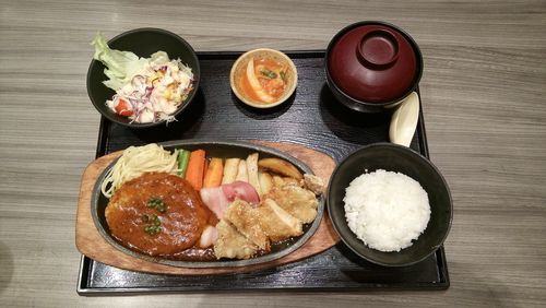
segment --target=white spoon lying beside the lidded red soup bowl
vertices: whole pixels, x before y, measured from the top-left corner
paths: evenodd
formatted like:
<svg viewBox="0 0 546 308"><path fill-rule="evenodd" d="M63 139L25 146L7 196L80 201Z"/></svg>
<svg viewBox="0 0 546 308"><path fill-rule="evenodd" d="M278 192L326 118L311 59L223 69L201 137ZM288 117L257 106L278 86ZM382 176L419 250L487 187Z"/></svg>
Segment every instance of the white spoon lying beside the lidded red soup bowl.
<svg viewBox="0 0 546 308"><path fill-rule="evenodd" d="M419 96L412 92L394 111L389 128L392 143L410 146L419 119Z"/></svg>

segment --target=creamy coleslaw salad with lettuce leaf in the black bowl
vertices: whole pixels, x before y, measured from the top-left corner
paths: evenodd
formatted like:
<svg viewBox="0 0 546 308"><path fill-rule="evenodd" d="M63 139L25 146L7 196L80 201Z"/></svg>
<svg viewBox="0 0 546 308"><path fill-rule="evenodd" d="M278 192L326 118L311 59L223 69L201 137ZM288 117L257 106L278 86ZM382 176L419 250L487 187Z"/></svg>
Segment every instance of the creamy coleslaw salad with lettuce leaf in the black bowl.
<svg viewBox="0 0 546 308"><path fill-rule="evenodd" d="M175 120L173 114L193 88L191 68L180 59L170 60L165 51L140 58L130 51L110 49L98 33L93 39L94 59L106 66L103 83L116 94L106 105L131 122L150 123Z"/></svg>

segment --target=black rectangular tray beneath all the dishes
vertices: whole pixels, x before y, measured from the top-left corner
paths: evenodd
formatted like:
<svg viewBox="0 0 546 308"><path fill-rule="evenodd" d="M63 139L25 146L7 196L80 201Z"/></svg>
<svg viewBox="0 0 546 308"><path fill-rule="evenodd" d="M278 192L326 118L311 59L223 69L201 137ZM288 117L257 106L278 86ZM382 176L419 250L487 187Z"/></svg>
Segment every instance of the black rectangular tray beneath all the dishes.
<svg viewBox="0 0 546 308"><path fill-rule="evenodd" d="M287 55L298 70L296 94L274 109L247 107L232 93L229 71L240 52L199 52L201 85L194 100L168 127L129 129L102 118L96 156L130 145L181 139L270 140L301 144L337 162L355 149L389 140L391 115L359 114L339 104L325 84L324 51ZM423 111L411 147L428 157ZM227 275L161 275L124 271L82 256L80 295L256 289L446 289L443 246L412 266L383 268L360 260L343 242L306 260Z"/></svg>

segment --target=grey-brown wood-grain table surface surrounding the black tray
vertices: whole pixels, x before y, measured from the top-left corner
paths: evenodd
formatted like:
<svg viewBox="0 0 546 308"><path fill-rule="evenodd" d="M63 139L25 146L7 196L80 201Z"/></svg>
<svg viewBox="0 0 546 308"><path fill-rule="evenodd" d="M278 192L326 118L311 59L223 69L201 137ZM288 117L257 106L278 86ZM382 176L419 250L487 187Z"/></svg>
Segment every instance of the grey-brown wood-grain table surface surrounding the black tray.
<svg viewBox="0 0 546 308"><path fill-rule="evenodd" d="M546 305L544 0L179 2L2 1L1 306ZM424 55L430 155L454 201L449 289L76 294L75 205L99 123L85 87L97 31L161 27L199 51L324 49L339 29L365 20L401 26Z"/></svg>

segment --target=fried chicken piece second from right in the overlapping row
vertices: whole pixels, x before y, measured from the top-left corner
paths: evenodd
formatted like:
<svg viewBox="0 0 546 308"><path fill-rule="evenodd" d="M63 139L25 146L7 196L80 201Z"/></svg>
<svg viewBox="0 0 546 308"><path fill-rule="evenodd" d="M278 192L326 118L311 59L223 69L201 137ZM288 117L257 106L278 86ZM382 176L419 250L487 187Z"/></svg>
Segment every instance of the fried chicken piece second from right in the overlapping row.
<svg viewBox="0 0 546 308"><path fill-rule="evenodd" d="M299 236L304 233L301 221L288 214L272 199L265 199L253 211L258 213L262 229L273 241Z"/></svg>

